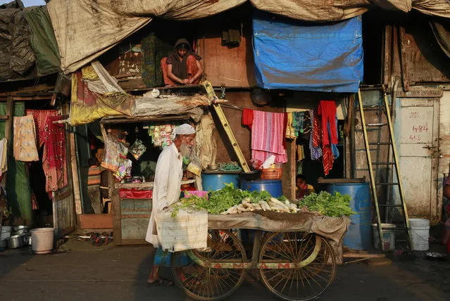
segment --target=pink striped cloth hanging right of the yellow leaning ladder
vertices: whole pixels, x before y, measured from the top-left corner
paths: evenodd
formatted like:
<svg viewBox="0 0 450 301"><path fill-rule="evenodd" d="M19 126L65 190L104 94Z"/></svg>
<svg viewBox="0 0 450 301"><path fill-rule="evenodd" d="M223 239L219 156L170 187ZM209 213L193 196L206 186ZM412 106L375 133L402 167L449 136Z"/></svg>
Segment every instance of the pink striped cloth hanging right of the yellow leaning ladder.
<svg viewBox="0 0 450 301"><path fill-rule="evenodd" d="M251 128L251 158L264 162L275 155L276 163L287 162L286 148L283 146L285 113L270 113L255 110Z"/></svg>

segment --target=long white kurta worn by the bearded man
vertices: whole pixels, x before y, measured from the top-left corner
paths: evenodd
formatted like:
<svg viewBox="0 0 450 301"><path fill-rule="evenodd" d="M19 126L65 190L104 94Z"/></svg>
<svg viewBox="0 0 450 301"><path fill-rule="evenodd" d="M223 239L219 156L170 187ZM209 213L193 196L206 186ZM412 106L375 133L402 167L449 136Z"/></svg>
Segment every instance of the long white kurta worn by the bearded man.
<svg viewBox="0 0 450 301"><path fill-rule="evenodd" d="M154 245L155 248L159 247L160 243L158 236L153 234L154 214L162 212L164 207L172 205L180 198L181 179L183 177L182 165L182 155L178 152L175 144L165 148L156 163L153 203L149 227L145 236L145 240Z"/></svg>

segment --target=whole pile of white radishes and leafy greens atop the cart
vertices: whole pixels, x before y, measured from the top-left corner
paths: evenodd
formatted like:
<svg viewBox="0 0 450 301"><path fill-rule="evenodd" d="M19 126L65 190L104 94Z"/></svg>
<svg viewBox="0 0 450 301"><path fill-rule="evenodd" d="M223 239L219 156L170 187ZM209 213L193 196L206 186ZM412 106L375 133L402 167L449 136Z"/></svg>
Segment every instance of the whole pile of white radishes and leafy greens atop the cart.
<svg viewBox="0 0 450 301"><path fill-rule="evenodd" d="M350 208L351 197L340 193L333 196L326 191L312 193L299 203L291 203L285 196L273 198L267 191L242 191L235 189L233 184L225 184L218 191L211 191L209 198L191 196L182 198L170 206L172 217L176 217L180 209L206 210L211 214L239 214L256 210L297 213L319 212L329 217L355 214Z"/></svg>

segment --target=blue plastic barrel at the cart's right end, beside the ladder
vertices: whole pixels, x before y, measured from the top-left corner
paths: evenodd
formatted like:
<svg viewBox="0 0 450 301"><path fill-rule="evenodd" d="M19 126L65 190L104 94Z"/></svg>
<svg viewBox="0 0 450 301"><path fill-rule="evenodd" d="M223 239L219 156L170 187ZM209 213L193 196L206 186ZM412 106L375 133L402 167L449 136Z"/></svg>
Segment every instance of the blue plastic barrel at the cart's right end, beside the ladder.
<svg viewBox="0 0 450 301"><path fill-rule="evenodd" d="M351 215L349 231L344 236L344 245L353 250L368 250L372 234L372 203L370 186L365 183L334 183L327 188L329 193L335 191L351 196L350 207L357 214Z"/></svg>

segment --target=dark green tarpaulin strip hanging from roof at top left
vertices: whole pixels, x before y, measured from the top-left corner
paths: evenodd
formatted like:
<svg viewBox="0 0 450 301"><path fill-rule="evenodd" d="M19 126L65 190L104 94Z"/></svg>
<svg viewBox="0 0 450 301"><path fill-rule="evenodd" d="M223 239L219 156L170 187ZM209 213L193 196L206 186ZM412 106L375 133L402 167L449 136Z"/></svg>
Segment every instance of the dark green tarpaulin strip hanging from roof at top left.
<svg viewBox="0 0 450 301"><path fill-rule="evenodd" d="M25 10L25 18L30 29L31 48L36 56L37 75L61 72L58 43L46 6Z"/></svg>

